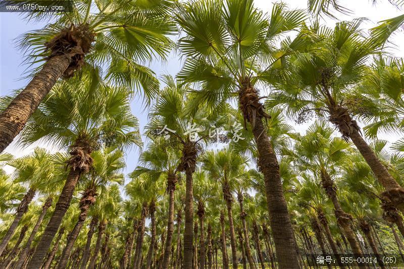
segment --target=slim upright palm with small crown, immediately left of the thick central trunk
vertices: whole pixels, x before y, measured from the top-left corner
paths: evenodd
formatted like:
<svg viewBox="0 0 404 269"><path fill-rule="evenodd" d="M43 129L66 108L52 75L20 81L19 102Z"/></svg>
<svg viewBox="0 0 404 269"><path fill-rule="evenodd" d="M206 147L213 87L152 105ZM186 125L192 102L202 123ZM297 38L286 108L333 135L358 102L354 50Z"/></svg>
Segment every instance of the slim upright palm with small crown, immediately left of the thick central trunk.
<svg viewBox="0 0 404 269"><path fill-rule="evenodd" d="M207 151L202 157L203 169L210 172L210 177L218 180L222 186L223 199L226 202L228 221L230 226L230 240L233 268L237 268L237 245L233 224L232 203L234 184L245 171L248 159L236 154L229 148L218 152Z"/></svg>

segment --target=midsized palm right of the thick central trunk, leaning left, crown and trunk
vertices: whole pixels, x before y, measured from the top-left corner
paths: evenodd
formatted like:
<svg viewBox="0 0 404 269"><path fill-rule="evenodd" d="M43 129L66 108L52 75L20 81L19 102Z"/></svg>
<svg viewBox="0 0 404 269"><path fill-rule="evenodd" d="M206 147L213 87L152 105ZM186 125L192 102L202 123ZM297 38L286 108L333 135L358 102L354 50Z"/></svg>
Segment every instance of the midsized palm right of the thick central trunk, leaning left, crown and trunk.
<svg viewBox="0 0 404 269"><path fill-rule="evenodd" d="M332 133L333 129L324 122L315 122L305 136L296 135L295 153L292 153L296 154L296 158L292 157L292 160L300 166L300 171L311 170L320 178L321 185L334 206L338 225L342 227L352 252L360 256L363 253L351 227L352 216L342 209L336 185L330 175L346 159L349 143L342 138L331 138Z"/></svg>

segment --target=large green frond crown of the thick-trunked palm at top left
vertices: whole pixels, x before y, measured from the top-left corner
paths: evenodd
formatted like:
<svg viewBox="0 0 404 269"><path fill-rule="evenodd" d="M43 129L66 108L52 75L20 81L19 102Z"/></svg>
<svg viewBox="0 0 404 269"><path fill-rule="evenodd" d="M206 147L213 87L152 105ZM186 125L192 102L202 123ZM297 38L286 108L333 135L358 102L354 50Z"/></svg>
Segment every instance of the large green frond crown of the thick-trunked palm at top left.
<svg viewBox="0 0 404 269"><path fill-rule="evenodd" d="M29 19L46 19L52 23L20 37L27 61L36 63L58 54L58 49L63 50L58 45L62 44L55 41L65 29L77 28L81 34L72 34L73 38L82 38L82 44L86 41L90 44L85 58L69 67L65 76L72 75L84 64L102 66L111 81L147 98L155 96L159 82L154 72L142 64L156 56L164 58L172 47L166 35L176 30L169 19L173 2L78 0L69 3L72 12L29 14Z"/></svg>

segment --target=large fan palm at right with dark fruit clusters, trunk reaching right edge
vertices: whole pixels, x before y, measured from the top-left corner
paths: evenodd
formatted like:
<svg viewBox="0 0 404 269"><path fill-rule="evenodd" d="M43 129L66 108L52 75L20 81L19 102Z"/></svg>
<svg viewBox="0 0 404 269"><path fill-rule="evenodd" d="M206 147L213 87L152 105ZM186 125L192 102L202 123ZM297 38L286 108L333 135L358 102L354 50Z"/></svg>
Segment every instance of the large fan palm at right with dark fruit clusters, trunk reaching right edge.
<svg viewBox="0 0 404 269"><path fill-rule="evenodd" d="M324 49L301 53L291 59L281 75L278 90L271 93L267 104L285 107L298 121L304 121L313 111L319 117L327 117L342 137L350 139L364 156L385 188L383 196L400 209L404 189L362 137L347 101L351 97L350 89L366 74L366 61L380 48L374 38L363 36L360 25L361 20L355 20L340 22L333 30L318 24L308 28L322 38L320 43Z"/></svg>

